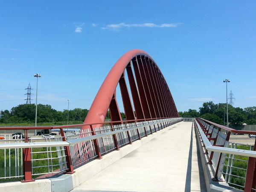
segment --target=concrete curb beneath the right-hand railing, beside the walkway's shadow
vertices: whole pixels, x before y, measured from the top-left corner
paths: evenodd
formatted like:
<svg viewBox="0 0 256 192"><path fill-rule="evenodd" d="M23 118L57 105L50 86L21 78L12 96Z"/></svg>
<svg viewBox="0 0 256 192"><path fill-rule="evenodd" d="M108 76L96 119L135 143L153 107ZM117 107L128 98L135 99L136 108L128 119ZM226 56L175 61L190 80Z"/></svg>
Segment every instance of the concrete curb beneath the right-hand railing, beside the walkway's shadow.
<svg viewBox="0 0 256 192"><path fill-rule="evenodd" d="M204 154L206 151L205 151L205 148L203 147L203 143L201 142L199 133L196 130L196 128L195 128L195 134L198 141L198 146L199 146L198 148L200 151L200 157L201 157L202 167L204 171L204 178L205 178L205 184L207 187L207 192L243 192L239 189L234 189L233 187L229 186L228 183L212 181L215 170L213 169L212 165L207 164L209 160L209 155Z"/></svg>

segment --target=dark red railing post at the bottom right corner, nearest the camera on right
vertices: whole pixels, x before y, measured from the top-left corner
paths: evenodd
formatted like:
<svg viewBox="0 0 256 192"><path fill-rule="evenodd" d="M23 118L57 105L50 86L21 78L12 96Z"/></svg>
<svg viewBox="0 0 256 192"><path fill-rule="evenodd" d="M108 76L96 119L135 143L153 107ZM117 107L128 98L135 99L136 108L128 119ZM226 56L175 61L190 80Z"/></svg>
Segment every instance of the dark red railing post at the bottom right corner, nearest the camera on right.
<svg viewBox="0 0 256 192"><path fill-rule="evenodd" d="M256 139L254 142L254 151L256 151ZM247 166L247 173L246 173L246 180L245 180L245 186L244 191L250 192L252 189L256 188L256 158L255 157L249 157L248 159L248 166Z"/></svg>

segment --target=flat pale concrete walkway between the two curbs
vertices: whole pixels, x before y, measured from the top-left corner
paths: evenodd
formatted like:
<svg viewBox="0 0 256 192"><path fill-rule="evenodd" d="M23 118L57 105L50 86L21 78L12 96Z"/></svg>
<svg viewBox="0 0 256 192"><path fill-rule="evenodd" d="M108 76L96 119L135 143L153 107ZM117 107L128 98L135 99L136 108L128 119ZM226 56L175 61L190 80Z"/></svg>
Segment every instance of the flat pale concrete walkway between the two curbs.
<svg viewBox="0 0 256 192"><path fill-rule="evenodd" d="M103 169L72 192L206 191L192 122L179 122L166 129L169 130Z"/></svg>

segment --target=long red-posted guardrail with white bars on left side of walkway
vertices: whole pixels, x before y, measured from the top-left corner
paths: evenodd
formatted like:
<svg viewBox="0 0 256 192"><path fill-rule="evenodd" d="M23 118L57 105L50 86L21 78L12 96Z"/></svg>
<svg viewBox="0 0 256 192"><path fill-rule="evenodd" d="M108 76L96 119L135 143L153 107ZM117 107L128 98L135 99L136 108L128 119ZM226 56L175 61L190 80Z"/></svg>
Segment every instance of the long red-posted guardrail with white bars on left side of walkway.
<svg viewBox="0 0 256 192"><path fill-rule="evenodd" d="M42 127L23 127L25 140L5 139L0 143L0 153L4 154L4 166L1 170L4 175L0 181L10 179L23 179L22 182L34 181L35 177L43 174L66 172L72 174L74 168L119 147L140 140L169 125L182 121L182 118L170 119L143 119L119 122L106 122L107 126L93 128L95 124L64 125L44 127L44 129L59 128L61 136L54 138L28 138L30 129ZM119 125L116 125L119 123ZM102 124L102 123L101 123ZM90 128L81 131L68 131L63 129L88 125ZM0 129L9 129L5 127ZM20 129L18 127L17 129Z"/></svg>

